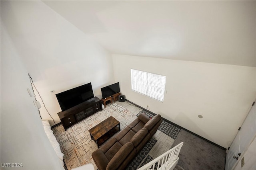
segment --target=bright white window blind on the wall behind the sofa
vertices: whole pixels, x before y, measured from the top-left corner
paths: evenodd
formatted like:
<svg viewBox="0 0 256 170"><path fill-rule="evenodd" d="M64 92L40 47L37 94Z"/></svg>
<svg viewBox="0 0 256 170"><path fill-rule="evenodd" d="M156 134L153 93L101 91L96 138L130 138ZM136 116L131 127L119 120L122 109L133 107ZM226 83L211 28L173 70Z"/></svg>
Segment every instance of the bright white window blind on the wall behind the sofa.
<svg viewBox="0 0 256 170"><path fill-rule="evenodd" d="M132 90L164 102L166 76L131 69Z"/></svg>

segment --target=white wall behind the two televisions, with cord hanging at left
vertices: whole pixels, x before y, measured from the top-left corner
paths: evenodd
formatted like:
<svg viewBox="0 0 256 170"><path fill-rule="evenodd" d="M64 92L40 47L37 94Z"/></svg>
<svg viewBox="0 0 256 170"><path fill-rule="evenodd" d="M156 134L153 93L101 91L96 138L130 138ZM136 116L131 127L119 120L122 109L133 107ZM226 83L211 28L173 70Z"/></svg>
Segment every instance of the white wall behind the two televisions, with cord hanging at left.
<svg viewBox="0 0 256 170"><path fill-rule="evenodd" d="M56 123L61 109L55 94L91 82L101 98L100 88L114 83L110 53L46 4L8 1L1 7L14 46ZM44 107L40 112L53 125Z"/></svg>

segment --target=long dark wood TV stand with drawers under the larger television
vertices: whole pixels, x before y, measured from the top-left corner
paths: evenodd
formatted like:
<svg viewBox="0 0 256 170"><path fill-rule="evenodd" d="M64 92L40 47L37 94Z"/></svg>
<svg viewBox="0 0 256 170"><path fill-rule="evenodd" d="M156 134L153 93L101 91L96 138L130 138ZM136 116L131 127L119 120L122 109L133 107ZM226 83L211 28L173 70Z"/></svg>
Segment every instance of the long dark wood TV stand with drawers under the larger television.
<svg viewBox="0 0 256 170"><path fill-rule="evenodd" d="M100 110L102 110L101 101L99 98L94 97L68 110L60 111L58 116L60 117L60 121L66 131L68 127L71 127Z"/></svg>

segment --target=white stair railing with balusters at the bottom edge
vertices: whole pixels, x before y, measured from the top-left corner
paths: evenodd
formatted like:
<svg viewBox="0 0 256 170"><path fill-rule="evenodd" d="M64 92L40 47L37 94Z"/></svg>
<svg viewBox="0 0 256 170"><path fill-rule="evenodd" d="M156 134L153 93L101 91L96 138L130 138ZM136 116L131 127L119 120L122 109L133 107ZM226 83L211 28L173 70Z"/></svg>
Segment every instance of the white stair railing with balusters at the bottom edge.
<svg viewBox="0 0 256 170"><path fill-rule="evenodd" d="M138 170L154 170L155 168L156 170L172 170L178 164L178 155L182 145L183 142L148 162Z"/></svg>

